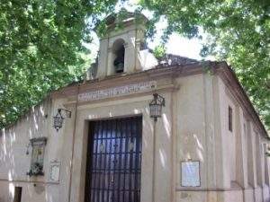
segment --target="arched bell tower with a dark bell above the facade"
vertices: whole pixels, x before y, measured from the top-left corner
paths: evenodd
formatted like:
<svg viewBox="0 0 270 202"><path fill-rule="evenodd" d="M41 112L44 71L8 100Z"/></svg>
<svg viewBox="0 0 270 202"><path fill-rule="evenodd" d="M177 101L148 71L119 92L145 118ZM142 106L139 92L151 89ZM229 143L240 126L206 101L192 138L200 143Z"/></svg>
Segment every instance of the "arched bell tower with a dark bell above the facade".
<svg viewBox="0 0 270 202"><path fill-rule="evenodd" d="M104 21L107 31L100 39L96 77L140 71L139 50L145 44L147 18L121 10Z"/></svg>

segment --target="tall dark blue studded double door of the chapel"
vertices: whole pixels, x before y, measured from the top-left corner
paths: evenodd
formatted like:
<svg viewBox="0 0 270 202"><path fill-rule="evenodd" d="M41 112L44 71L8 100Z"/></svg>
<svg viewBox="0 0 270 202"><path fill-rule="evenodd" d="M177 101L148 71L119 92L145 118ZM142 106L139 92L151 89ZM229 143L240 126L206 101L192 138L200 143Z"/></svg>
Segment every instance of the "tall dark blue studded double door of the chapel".
<svg viewBox="0 0 270 202"><path fill-rule="evenodd" d="M85 202L139 202L142 118L91 121Z"/></svg>

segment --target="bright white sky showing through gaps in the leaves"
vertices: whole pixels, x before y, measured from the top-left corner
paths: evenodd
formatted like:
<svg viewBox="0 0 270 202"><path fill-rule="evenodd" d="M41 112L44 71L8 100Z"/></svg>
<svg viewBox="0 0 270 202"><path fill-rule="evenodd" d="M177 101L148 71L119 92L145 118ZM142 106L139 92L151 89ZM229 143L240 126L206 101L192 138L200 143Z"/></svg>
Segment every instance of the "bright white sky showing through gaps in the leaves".
<svg viewBox="0 0 270 202"><path fill-rule="evenodd" d="M130 0L128 3L125 4L118 4L116 6L116 11L120 10L122 7L127 9L128 11L132 12L136 8L136 0ZM143 11L143 14L149 18L151 18L152 13L149 11ZM148 40L148 47L155 48L158 44L160 44L160 37L162 35L162 30L166 28L166 21L160 21L156 24L157 34L154 37L153 41ZM87 45L87 48L90 48L92 53L95 55L96 51L99 48L99 40L96 35L93 35L94 41L91 45ZM203 37L203 34L202 34ZM182 57L190 57L193 59L202 59L200 56L200 50L202 48L202 40L199 39L187 39L180 36L177 33L173 33L169 40L166 43L166 52L179 55ZM211 59L212 57L206 57L204 59Z"/></svg>

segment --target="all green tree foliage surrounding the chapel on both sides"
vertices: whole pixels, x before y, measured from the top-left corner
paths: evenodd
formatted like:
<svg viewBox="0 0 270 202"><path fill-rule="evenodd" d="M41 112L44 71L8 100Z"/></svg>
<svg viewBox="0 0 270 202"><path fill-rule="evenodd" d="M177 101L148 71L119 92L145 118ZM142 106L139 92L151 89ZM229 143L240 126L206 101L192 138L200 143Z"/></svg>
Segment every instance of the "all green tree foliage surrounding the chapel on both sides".
<svg viewBox="0 0 270 202"><path fill-rule="evenodd" d="M49 91L81 79L83 42L100 16L112 13L116 0L2 0L0 4L0 128L13 123ZM176 31L187 38L209 34L202 56L214 55L233 66L251 101L270 126L270 18L266 0L141 0L154 12L148 22L165 17L163 36ZM141 9L141 8L140 8ZM138 13L140 9L136 10ZM122 13L124 17L124 13ZM121 26L121 25L119 25ZM100 30L106 27L100 26ZM155 48L162 57L165 48Z"/></svg>

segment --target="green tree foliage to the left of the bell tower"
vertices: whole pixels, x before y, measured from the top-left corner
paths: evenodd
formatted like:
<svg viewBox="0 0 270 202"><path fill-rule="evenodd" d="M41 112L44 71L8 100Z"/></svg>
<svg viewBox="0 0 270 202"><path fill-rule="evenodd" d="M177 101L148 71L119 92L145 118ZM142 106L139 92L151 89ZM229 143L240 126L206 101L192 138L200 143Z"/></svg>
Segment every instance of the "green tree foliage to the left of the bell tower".
<svg viewBox="0 0 270 202"><path fill-rule="evenodd" d="M0 128L49 91L80 80L89 54L83 41L115 0L2 0ZM90 19L90 20L86 20Z"/></svg>

